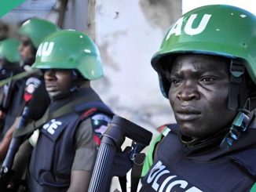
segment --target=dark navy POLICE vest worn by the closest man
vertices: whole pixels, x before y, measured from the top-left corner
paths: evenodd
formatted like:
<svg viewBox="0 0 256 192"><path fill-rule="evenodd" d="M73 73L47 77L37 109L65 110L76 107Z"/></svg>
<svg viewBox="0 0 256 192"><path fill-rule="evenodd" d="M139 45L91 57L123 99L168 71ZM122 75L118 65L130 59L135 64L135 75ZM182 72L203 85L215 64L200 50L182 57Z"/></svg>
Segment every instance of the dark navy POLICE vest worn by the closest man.
<svg viewBox="0 0 256 192"><path fill-rule="evenodd" d="M154 164L142 179L142 192L244 192L254 184L228 155L211 161L189 159L174 132L168 133L155 153Z"/></svg>

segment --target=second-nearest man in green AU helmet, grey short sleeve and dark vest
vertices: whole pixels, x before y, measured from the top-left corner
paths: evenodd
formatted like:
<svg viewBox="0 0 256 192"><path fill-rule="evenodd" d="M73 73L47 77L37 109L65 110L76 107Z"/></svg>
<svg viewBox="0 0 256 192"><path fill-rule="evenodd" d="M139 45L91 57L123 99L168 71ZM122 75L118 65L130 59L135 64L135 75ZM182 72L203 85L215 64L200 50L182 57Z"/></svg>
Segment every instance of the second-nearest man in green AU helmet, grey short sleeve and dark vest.
<svg viewBox="0 0 256 192"><path fill-rule="evenodd" d="M32 67L42 70L51 103L42 118L27 125L26 132L14 134L38 130L30 138L36 144L27 187L29 191L87 191L100 135L113 115L90 86L91 80L103 75L97 46L82 32L57 31L39 45Z"/></svg>

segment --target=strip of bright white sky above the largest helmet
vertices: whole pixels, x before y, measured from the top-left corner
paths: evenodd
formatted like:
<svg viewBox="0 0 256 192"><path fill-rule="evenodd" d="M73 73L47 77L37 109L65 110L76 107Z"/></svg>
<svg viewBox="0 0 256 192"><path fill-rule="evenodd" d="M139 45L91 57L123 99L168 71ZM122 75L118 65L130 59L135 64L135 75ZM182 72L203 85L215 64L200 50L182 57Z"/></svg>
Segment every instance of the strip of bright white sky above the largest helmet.
<svg viewBox="0 0 256 192"><path fill-rule="evenodd" d="M235 5L242 9L247 9L247 11L250 11L256 15L255 0L183 0L182 2L182 13L186 13L189 10L202 5L227 4Z"/></svg>

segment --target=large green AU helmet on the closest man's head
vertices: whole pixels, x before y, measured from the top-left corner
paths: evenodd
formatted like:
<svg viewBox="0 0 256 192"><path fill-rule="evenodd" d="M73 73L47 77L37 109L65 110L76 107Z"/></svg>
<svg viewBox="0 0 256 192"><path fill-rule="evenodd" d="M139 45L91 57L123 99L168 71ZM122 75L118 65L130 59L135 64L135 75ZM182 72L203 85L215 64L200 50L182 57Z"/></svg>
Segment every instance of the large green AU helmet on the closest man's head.
<svg viewBox="0 0 256 192"><path fill-rule="evenodd" d="M163 96L170 83L161 74L166 57L201 53L243 60L256 84L256 16L232 5L206 5L185 13L173 24L152 57Z"/></svg>

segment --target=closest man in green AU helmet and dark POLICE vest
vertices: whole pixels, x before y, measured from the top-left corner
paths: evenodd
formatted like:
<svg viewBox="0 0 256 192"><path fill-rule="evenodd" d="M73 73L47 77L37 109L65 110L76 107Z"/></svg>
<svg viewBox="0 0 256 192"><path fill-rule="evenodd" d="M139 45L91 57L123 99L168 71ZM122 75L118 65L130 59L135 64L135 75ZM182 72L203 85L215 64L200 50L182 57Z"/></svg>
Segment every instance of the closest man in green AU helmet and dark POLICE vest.
<svg viewBox="0 0 256 192"><path fill-rule="evenodd" d="M152 57L176 124L163 125L140 191L252 191L256 16L232 5L185 13Z"/></svg>

